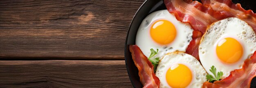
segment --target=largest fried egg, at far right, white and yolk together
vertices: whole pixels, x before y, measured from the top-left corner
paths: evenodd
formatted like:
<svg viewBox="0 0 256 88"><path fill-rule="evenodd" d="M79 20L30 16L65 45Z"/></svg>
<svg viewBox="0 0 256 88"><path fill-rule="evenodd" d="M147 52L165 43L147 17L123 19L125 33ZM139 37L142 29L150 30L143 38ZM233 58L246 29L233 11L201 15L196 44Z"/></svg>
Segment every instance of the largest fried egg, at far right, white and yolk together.
<svg viewBox="0 0 256 88"><path fill-rule="evenodd" d="M256 35L252 27L238 18L227 18L211 24L199 45L199 57L210 75L211 66L227 77L232 70L242 68L256 50Z"/></svg>

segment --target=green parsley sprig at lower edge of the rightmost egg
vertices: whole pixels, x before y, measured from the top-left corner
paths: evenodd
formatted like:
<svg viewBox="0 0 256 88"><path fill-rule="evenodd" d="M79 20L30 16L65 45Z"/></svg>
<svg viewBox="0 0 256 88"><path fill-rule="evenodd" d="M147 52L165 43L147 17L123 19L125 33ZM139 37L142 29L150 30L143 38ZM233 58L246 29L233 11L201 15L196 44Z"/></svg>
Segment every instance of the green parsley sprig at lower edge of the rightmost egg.
<svg viewBox="0 0 256 88"><path fill-rule="evenodd" d="M207 80L209 80L210 82L215 80L215 81L219 81L220 80L220 77L222 77L223 73L222 71L218 72L217 75L216 75L216 68L214 66L211 66L211 69L210 69L211 73L213 73L214 77L210 74L206 75L206 78Z"/></svg>

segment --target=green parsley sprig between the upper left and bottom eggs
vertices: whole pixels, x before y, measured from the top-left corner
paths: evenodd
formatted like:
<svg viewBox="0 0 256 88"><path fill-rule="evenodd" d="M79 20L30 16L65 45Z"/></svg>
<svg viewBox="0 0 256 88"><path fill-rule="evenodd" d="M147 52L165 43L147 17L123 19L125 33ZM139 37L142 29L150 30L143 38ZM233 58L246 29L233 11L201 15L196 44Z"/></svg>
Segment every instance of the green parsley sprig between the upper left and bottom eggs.
<svg viewBox="0 0 256 88"><path fill-rule="evenodd" d="M148 60L153 64L153 66L154 66L154 72L155 72L156 69L157 69L158 62L159 62L159 57L156 57L156 58L153 58L153 59L151 59L151 58L157 54L158 49L157 49L157 51L155 51L153 48L151 48L151 49L150 49L150 52L151 52L151 54L150 54L150 56L148 57Z"/></svg>

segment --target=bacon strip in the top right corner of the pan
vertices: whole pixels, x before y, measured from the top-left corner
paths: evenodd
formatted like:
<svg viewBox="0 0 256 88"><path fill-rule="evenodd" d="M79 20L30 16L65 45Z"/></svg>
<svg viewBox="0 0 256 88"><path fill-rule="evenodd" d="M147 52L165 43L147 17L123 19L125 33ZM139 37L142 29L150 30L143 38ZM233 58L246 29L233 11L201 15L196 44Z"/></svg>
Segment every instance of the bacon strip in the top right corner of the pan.
<svg viewBox="0 0 256 88"><path fill-rule="evenodd" d="M245 10L241 4L234 4L231 0L201 0L203 5L211 7L214 11L227 13L247 22L256 31L256 14L252 10Z"/></svg>

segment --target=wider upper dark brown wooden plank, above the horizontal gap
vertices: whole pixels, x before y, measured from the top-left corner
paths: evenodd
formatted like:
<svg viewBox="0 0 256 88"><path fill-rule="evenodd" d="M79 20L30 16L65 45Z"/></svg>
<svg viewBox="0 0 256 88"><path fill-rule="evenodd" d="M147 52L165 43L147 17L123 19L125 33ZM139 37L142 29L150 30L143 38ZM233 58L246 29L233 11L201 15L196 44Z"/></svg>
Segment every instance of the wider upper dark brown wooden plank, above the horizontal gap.
<svg viewBox="0 0 256 88"><path fill-rule="evenodd" d="M0 0L0 58L124 59L144 0Z"/></svg>

